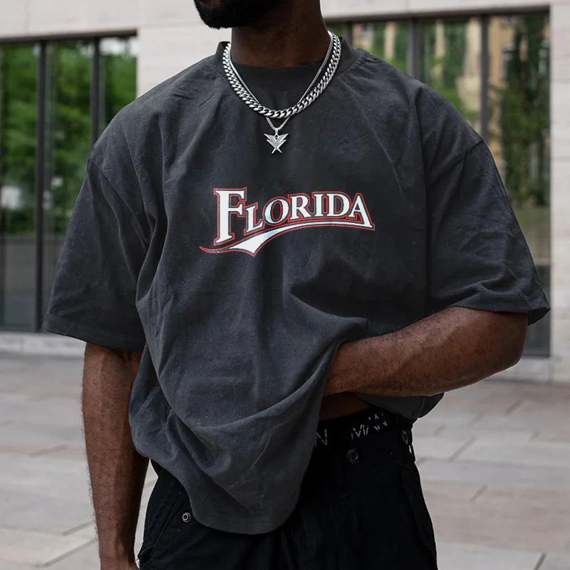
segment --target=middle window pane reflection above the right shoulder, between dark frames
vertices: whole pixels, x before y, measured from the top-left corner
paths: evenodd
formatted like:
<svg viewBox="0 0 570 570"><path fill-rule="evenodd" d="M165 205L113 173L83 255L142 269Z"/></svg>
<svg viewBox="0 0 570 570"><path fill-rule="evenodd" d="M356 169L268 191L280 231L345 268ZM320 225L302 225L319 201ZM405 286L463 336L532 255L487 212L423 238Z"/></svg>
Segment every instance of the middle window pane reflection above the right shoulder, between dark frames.
<svg viewBox="0 0 570 570"><path fill-rule="evenodd" d="M480 19L422 25L421 80L450 100L475 130L480 130L480 62Z"/></svg>

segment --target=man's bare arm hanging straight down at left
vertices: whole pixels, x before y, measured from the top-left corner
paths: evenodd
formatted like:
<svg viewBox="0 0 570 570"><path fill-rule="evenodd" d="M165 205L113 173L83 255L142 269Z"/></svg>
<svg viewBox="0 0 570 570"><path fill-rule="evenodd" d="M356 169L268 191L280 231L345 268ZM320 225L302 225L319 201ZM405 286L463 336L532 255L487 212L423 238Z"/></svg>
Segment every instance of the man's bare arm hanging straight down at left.
<svg viewBox="0 0 570 570"><path fill-rule="evenodd" d="M147 458L136 452L128 420L140 353L87 343L83 424L101 570L135 565L135 530Z"/></svg>

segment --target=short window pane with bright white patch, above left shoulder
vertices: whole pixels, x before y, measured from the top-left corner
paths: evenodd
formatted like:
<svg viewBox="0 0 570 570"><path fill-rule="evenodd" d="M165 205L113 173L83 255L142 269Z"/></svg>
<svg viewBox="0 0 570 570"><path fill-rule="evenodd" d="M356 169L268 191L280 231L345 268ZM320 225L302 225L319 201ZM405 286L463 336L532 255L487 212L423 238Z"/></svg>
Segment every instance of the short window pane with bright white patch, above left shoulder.
<svg viewBox="0 0 570 570"><path fill-rule="evenodd" d="M100 42L100 131L137 95L138 39L104 38Z"/></svg>

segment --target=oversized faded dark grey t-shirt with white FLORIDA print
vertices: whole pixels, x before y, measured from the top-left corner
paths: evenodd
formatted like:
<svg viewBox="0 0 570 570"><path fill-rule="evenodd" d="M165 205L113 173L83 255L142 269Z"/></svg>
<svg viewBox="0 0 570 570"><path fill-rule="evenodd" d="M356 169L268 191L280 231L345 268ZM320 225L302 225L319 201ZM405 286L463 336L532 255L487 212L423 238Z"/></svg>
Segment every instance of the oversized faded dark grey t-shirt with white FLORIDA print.
<svg viewBox="0 0 570 570"><path fill-rule="evenodd" d="M44 326L142 352L135 447L198 522L257 534L295 507L341 343L451 306L532 323L548 305L492 156L445 98L343 41L273 152L224 45L93 148ZM317 68L239 71L284 108ZM440 396L363 398L415 419Z"/></svg>

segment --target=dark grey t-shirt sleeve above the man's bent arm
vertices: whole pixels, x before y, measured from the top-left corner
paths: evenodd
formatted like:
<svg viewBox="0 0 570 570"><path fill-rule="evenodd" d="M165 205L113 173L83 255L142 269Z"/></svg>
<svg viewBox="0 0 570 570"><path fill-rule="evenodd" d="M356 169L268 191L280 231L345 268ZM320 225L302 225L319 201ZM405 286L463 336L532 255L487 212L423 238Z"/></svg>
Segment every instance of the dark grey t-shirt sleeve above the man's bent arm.
<svg viewBox="0 0 570 570"><path fill-rule="evenodd" d="M537 269L487 145L478 140L427 183L428 308L549 311Z"/></svg>

